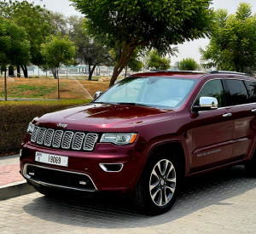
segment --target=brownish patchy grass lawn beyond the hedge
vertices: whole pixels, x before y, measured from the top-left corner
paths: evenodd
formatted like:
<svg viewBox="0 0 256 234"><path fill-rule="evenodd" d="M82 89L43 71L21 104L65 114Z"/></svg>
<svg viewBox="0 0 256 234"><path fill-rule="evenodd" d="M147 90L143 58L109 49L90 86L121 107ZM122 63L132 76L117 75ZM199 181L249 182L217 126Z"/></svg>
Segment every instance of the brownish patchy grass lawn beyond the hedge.
<svg viewBox="0 0 256 234"><path fill-rule="evenodd" d="M4 80L0 77L0 98L4 98ZM96 91L105 91L108 82L87 81L79 77L60 78L61 99L92 99ZM56 99L57 81L53 78L7 78L8 98Z"/></svg>

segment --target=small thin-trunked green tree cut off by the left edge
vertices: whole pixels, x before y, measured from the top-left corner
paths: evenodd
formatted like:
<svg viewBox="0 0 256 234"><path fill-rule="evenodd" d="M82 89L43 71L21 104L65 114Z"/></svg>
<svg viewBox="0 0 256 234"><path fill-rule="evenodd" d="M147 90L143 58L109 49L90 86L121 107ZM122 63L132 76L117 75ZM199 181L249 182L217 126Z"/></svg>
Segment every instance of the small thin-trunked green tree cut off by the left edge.
<svg viewBox="0 0 256 234"><path fill-rule="evenodd" d="M8 66L26 66L31 59L26 31L11 20L0 17L0 70L4 71L4 99L7 100L6 71Z"/></svg>

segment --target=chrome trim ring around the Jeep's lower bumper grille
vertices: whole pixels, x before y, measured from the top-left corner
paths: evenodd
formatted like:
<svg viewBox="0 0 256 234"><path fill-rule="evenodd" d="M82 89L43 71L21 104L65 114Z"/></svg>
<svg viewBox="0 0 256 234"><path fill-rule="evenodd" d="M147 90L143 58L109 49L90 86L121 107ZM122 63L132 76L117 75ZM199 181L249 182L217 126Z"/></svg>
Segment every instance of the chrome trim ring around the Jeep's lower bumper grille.
<svg viewBox="0 0 256 234"><path fill-rule="evenodd" d="M26 174L26 168L27 168L27 166L33 166L33 167L38 167L38 168L45 168L45 169L50 169L50 170L55 170L55 171L61 171L61 172L63 172L63 173L69 173L69 174L81 174L81 175L85 175L85 176L87 176L87 177L90 179L92 185L94 185L94 187L95 187L95 190L79 189L79 188L74 188L74 187L69 187L69 186L64 186L64 185L50 184L50 183L46 183L46 182L41 181L41 180L33 180L29 174ZM93 182L93 180L91 180L90 175L84 174L84 173L72 172L72 171L61 170L61 169L56 169L56 168L48 168L48 167L43 167L43 166L31 164L31 163L26 163L26 164L24 165L24 168L23 168L23 176L24 176L24 178L25 178L26 180L31 180L32 182L37 183L37 184L40 184L40 185L49 185L49 186L53 186L53 187L66 188L66 189L72 189L72 190L77 190L77 191L98 191L98 189L97 189L95 183Z"/></svg>

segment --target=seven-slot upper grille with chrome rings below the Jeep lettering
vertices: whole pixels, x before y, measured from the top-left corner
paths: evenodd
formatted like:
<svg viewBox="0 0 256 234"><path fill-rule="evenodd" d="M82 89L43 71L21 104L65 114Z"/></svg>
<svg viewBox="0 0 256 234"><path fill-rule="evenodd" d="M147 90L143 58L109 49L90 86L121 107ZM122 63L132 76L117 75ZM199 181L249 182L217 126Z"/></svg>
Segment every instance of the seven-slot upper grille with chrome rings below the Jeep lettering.
<svg viewBox="0 0 256 234"><path fill-rule="evenodd" d="M73 151L93 151L98 134L52 128L34 128L31 141L35 145Z"/></svg>

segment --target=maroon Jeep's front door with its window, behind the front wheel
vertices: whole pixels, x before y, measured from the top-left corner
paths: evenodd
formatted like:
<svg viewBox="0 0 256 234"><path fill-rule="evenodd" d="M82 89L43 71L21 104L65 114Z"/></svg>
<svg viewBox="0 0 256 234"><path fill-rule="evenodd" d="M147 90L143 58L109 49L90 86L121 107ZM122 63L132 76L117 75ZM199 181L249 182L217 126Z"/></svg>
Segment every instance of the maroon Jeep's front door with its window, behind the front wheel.
<svg viewBox="0 0 256 234"><path fill-rule="evenodd" d="M202 96L217 98L218 109L192 115L192 172L229 162L232 158L234 122L230 107L226 106L223 80L207 81L197 95L194 106L199 105Z"/></svg>

